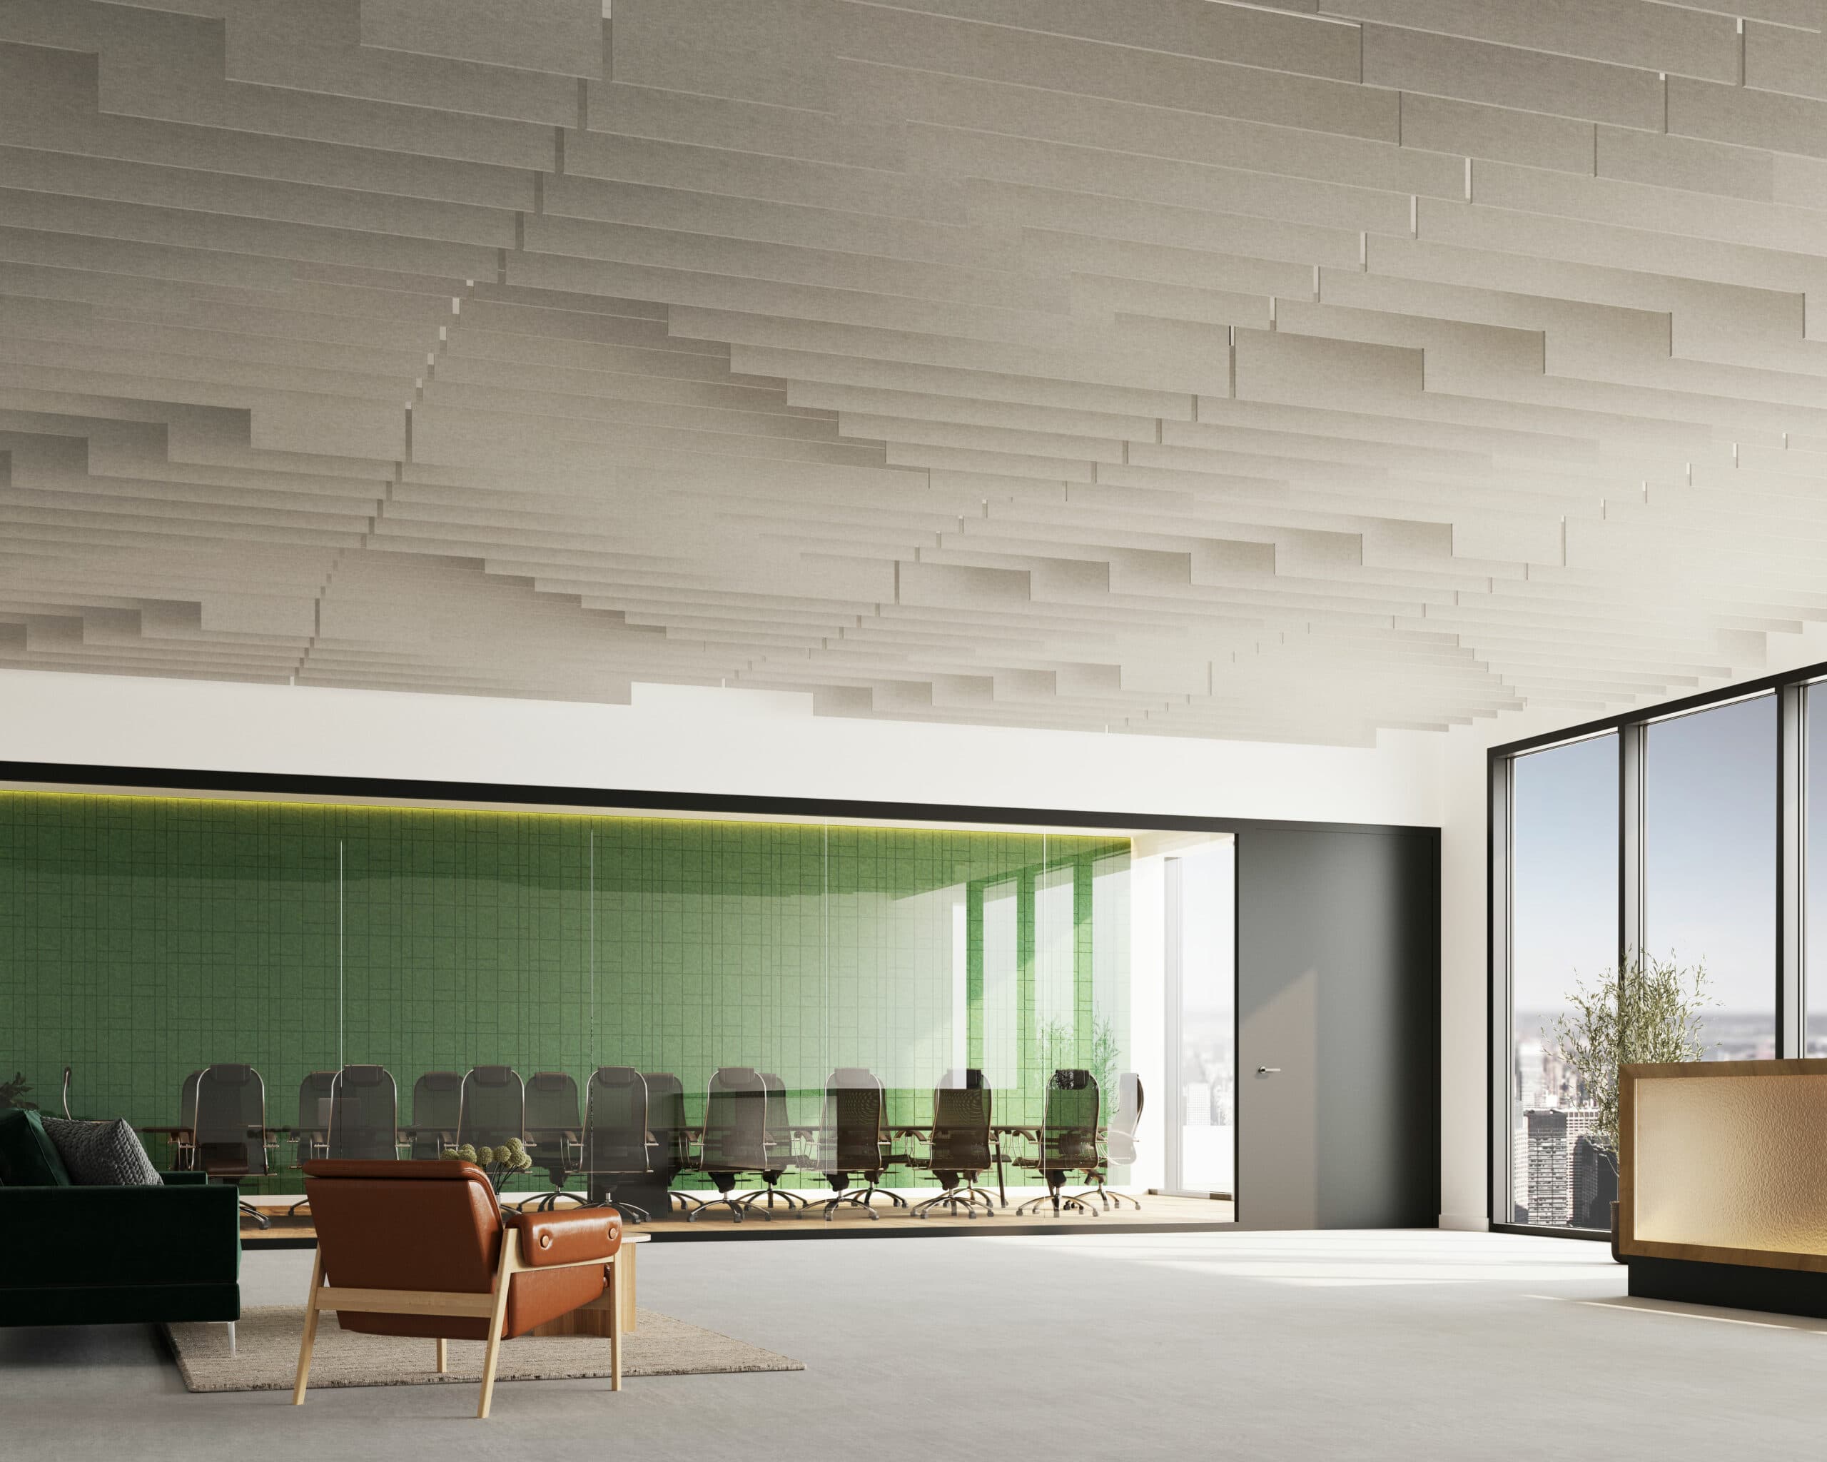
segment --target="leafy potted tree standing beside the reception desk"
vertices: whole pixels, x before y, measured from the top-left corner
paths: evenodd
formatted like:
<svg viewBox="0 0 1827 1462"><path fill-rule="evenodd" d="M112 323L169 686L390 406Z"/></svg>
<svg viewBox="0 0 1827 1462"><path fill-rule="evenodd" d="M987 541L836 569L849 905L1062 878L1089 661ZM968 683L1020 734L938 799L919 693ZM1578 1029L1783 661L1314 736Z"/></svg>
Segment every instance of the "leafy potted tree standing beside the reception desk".
<svg viewBox="0 0 1827 1462"><path fill-rule="evenodd" d="M1575 976L1577 980L1577 976ZM1568 994L1569 1011L1555 1020L1560 1058L1579 1073L1580 1093L1595 1109L1591 1142L1599 1171L1617 1193L1617 1069L1637 1062L1697 1062L1706 1056L1701 1011L1706 996L1706 965L1683 969L1674 954L1664 959L1633 952L1619 970L1606 970L1591 985L1577 980ZM1546 1034L1546 1033L1544 1033ZM1611 1245L1617 1252L1617 1199L1610 1201ZM1597 1215L1588 1215L1588 1221Z"/></svg>

